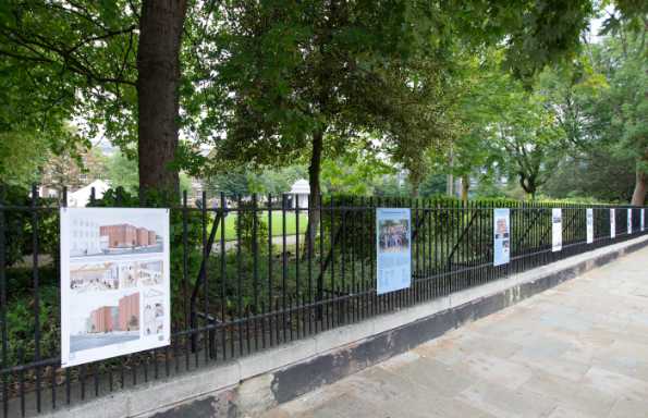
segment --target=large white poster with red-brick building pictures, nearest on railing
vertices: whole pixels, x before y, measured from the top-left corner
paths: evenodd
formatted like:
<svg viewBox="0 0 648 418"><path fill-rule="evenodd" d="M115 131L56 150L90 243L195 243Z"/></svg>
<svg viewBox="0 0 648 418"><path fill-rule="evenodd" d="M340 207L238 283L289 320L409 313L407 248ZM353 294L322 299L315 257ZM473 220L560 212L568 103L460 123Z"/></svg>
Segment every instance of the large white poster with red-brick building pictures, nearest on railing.
<svg viewBox="0 0 648 418"><path fill-rule="evenodd" d="M61 209L61 365L168 345L169 210Z"/></svg>

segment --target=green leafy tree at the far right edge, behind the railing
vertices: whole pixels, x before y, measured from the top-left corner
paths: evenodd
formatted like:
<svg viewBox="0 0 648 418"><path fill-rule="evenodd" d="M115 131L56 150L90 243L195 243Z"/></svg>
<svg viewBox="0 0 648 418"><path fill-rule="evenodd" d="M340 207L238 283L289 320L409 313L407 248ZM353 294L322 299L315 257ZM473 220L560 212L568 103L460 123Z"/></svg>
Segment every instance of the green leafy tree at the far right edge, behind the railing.
<svg viewBox="0 0 648 418"><path fill-rule="evenodd" d="M631 21L632 22L632 21ZM568 153L547 193L643 205L648 89L645 30L618 22L572 65L546 71L541 94L555 110Z"/></svg>

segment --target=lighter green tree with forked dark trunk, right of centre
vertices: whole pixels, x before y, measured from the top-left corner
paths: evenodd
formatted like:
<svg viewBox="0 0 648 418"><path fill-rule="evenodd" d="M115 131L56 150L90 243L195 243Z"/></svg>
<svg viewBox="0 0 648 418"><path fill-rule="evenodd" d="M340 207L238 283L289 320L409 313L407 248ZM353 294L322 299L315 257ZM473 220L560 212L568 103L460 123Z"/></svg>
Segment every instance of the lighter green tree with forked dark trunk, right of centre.
<svg viewBox="0 0 648 418"><path fill-rule="evenodd" d="M560 112L538 88L537 77L519 81L503 72L497 51L484 57L481 64L468 67L473 82L455 112L461 131L451 148L452 163L441 155L439 165L461 175L464 185L469 175L506 174L534 198L565 150ZM467 198L467 188L463 194Z"/></svg>

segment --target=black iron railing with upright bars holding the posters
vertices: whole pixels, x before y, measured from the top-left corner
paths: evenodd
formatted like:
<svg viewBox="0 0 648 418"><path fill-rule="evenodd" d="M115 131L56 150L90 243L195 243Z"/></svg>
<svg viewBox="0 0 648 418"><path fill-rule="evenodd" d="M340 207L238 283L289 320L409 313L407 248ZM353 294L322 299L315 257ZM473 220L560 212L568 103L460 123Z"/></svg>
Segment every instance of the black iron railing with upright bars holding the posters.
<svg viewBox="0 0 648 418"><path fill-rule="evenodd" d="M0 195L3 415L38 415L91 396L245 356L430 300L645 232L636 207L447 198L298 196L208 199L171 208L171 345L60 368L56 199ZM94 194L93 194L94 197ZM63 193L62 201L66 201ZM108 205L95 200L90 205ZM127 205L120 196L113 205ZM135 206L135 205L132 205ZM412 286L376 294L376 208L412 209ZM492 266L493 209L511 208L511 262ZM563 210L551 250L551 209ZM594 243L586 209L594 208ZM610 209L616 235L610 237ZM627 233L627 210L633 211ZM319 214L319 216L318 216ZM315 233L308 233L309 219ZM648 222L648 220L644 220Z"/></svg>

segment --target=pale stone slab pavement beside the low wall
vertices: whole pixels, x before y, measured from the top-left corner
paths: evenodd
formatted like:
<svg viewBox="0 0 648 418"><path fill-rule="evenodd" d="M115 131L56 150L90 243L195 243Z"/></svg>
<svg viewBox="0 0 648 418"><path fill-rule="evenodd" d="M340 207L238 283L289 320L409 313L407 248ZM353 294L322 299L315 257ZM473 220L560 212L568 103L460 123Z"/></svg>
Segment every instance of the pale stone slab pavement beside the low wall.
<svg viewBox="0 0 648 418"><path fill-rule="evenodd" d="M264 418L648 417L648 248Z"/></svg>

